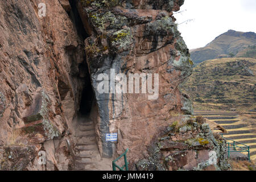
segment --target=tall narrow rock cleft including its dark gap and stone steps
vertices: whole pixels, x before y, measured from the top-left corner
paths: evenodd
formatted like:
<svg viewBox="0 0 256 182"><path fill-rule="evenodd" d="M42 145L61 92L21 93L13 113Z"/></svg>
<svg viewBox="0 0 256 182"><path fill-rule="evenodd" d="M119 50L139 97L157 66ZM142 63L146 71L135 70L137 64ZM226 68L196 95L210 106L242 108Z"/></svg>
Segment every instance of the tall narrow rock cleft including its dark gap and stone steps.
<svg viewBox="0 0 256 182"><path fill-rule="evenodd" d="M98 136L98 127L96 127L98 118L98 107L94 95L92 81L90 78L89 67L86 62L84 51L84 40L89 37L77 9L77 3L80 0L69 0L72 10L68 13L76 28L79 36L79 44L83 48L76 49L73 55L78 55L79 65L73 65L73 76L76 79L75 99L76 99L76 116L73 118L73 135L76 137L74 151L76 159L73 161L75 170L111 170L112 159L104 159L101 156L100 148L102 144L98 143L101 138ZM75 57L76 59L76 57ZM76 62L77 61L73 61ZM77 72L77 66L78 71Z"/></svg>

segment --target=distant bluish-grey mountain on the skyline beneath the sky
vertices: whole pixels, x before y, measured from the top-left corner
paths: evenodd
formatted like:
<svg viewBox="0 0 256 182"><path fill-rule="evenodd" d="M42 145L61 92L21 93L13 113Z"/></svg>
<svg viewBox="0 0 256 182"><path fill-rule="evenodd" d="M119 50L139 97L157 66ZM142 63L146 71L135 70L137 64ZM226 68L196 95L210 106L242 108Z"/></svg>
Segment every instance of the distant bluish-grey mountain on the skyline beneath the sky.
<svg viewBox="0 0 256 182"><path fill-rule="evenodd" d="M195 64L205 60L222 57L256 58L256 34L254 32L238 32L229 30L217 36L207 46L191 50L191 59Z"/></svg>

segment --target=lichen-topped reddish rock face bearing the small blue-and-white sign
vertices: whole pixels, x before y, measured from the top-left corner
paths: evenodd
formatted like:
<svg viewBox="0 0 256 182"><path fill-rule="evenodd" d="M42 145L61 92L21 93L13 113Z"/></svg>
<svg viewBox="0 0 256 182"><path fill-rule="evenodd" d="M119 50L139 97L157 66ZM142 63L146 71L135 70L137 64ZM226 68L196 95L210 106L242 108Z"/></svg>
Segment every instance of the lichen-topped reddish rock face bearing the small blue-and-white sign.
<svg viewBox="0 0 256 182"><path fill-rule="evenodd" d="M130 148L131 164L174 119L171 111L192 113L188 98L177 86L192 73L188 48L177 31L172 11L183 1L81 1L84 27L92 27L85 40L87 63L99 110L96 130L102 156L112 158ZM102 74L159 74L159 96L99 93ZM110 85L111 88L111 85ZM140 89L142 93L142 89ZM117 133L118 143L106 142Z"/></svg>

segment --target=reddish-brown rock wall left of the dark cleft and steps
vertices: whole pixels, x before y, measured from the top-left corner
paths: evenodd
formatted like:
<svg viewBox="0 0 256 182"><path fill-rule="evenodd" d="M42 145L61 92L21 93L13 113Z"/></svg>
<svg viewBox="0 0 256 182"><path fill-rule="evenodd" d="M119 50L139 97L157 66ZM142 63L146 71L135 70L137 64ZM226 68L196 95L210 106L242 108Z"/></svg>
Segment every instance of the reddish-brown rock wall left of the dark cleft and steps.
<svg viewBox="0 0 256 182"><path fill-rule="evenodd" d="M46 16L40 1L0 2L0 169L64 170L72 164L72 119L86 75L84 39L69 2L60 2L44 1ZM47 168L38 164L40 151Z"/></svg>

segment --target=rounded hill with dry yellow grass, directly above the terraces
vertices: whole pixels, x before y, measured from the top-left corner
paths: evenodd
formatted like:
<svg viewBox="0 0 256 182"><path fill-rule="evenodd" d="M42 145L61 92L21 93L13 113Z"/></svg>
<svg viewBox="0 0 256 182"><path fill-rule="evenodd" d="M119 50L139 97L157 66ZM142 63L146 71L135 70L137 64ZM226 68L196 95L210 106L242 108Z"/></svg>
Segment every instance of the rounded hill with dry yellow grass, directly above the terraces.
<svg viewBox="0 0 256 182"><path fill-rule="evenodd" d="M255 74L256 59L207 60L193 68L192 75L183 83L183 90L197 106L255 109Z"/></svg>

